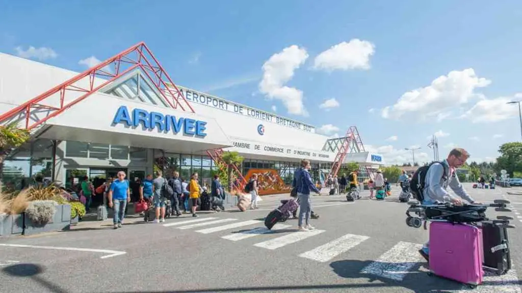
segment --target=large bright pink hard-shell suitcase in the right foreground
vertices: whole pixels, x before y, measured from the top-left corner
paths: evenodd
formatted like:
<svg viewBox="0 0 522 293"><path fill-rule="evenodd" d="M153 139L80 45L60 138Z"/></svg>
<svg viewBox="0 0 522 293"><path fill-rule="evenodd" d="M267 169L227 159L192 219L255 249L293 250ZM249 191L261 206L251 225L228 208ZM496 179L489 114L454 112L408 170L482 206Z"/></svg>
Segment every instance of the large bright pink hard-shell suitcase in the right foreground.
<svg viewBox="0 0 522 293"><path fill-rule="evenodd" d="M482 284L482 230L476 226L430 224L430 272L471 288Z"/></svg>

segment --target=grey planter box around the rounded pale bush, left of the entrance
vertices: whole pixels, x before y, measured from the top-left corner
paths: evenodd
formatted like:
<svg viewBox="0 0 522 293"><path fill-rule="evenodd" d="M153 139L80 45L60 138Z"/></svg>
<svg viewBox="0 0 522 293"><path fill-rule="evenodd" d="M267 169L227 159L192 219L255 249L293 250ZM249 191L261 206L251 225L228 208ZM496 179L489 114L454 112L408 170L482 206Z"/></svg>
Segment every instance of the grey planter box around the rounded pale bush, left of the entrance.
<svg viewBox="0 0 522 293"><path fill-rule="evenodd" d="M45 224L35 224L29 216L24 217L23 235L33 235L44 232L68 230L71 224L70 205L61 204L55 206L56 212L52 221Z"/></svg>

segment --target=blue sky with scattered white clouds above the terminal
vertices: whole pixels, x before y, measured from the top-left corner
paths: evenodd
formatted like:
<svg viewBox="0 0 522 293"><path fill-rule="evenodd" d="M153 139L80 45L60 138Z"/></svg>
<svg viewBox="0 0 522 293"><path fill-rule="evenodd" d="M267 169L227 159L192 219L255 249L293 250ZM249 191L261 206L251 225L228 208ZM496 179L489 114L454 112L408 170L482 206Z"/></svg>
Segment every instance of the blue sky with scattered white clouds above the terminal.
<svg viewBox="0 0 522 293"><path fill-rule="evenodd" d="M435 132L441 156L458 145L479 161L520 139L516 106L505 101L522 100L521 2L0 0L0 7L0 52L80 71L89 64L80 60L145 41L177 84L275 107L327 135L357 125L367 148L388 162L411 161L403 149L412 145L423 148L418 160L430 160L427 137ZM328 99L335 107L319 106Z"/></svg>

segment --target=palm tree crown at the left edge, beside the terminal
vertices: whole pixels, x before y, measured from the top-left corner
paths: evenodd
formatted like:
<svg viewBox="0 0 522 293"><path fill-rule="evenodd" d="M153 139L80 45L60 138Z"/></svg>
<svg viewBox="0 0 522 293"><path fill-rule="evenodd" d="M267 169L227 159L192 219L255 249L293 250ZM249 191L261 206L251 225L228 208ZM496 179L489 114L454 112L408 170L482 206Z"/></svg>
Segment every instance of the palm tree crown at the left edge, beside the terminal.
<svg viewBox="0 0 522 293"><path fill-rule="evenodd" d="M4 161L9 153L30 138L29 130L18 128L16 123L0 126L0 190L2 188L2 172Z"/></svg>

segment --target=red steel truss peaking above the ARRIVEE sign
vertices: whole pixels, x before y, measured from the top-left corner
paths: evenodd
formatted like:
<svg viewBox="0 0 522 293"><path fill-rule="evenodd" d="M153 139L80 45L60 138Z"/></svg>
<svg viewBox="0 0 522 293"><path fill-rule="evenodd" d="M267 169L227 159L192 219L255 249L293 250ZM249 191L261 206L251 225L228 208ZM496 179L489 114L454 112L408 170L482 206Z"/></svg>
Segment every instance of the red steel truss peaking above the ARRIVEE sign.
<svg viewBox="0 0 522 293"><path fill-rule="evenodd" d="M5 124L6 121L22 116L26 119L25 128L31 130L66 111L66 109L86 99L86 97L92 93L136 68L144 72L145 76L149 78L156 90L158 90L158 94L160 94L172 108L176 109L180 107L182 111L187 111L185 109L185 107L187 107L189 111L194 113L192 106L187 102L182 92L174 85L174 82L172 82L167 72L159 64L156 57L152 55L147 45L145 45L144 42L140 42L59 84L49 91L34 97L34 99L11 109L9 112L0 116L0 124ZM96 85L100 81L103 82ZM80 96L77 96L78 92L80 92ZM73 97L70 97L70 95L73 95ZM69 97L69 99L67 99L67 97ZM57 101L59 101L59 103L57 103ZM185 106L181 104L182 101ZM31 121L31 113L42 109L47 111L48 115Z"/></svg>

